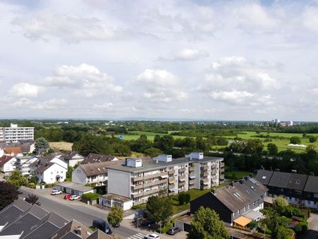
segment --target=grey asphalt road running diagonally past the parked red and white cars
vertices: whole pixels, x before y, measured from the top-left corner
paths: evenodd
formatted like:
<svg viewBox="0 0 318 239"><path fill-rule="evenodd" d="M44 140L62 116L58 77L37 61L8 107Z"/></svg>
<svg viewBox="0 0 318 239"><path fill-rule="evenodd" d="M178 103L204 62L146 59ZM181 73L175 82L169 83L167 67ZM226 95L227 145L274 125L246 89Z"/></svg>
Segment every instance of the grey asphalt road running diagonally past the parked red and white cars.
<svg viewBox="0 0 318 239"><path fill-rule="evenodd" d="M22 192L22 194L19 196L21 198L28 197L28 194L30 194L30 192L27 192L23 189L20 189L20 192ZM93 209L88 209L84 206L68 206L66 204L61 204L59 202L55 202L54 200L41 197L39 194L37 194L37 197L39 197L39 202L45 210L54 211L68 220L76 219L76 221L83 223L85 226L92 226L93 220L95 219L106 219L106 214L102 214ZM115 233L119 236L119 238L128 238L129 236L139 232L121 226L115 229Z"/></svg>

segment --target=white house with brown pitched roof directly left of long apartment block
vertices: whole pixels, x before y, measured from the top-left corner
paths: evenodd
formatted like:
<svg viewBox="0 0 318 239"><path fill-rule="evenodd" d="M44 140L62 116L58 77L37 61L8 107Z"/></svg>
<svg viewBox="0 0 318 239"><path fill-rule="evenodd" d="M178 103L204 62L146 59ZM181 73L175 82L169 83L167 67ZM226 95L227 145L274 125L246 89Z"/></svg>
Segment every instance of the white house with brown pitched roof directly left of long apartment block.
<svg viewBox="0 0 318 239"><path fill-rule="evenodd" d="M118 165L122 161L105 161L101 163L81 164L72 172L72 182L81 185L104 185L108 180L107 166Z"/></svg>

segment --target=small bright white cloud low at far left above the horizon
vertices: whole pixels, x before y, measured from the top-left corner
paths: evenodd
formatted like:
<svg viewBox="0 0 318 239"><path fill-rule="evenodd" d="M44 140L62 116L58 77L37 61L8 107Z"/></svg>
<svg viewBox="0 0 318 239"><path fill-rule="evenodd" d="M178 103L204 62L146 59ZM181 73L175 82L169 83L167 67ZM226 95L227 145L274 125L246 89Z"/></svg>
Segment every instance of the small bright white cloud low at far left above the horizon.
<svg viewBox="0 0 318 239"><path fill-rule="evenodd" d="M35 98L40 93L43 93L45 88L42 86L36 86L30 83L16 83L11 87L11 94L18 97Z"/></svg>

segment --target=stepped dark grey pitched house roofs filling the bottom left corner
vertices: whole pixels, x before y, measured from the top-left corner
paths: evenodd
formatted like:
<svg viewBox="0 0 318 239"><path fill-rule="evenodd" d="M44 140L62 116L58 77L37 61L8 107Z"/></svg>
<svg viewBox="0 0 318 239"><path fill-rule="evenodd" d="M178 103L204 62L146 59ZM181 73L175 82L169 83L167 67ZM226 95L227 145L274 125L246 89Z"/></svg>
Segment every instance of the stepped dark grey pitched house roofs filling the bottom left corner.
<svg viewBox="0 0 318 239"><path fill-rule="evenodd" d="M111 239L102 231L90 231L76 220L17 199L0 211L0 239Z"/></svg>

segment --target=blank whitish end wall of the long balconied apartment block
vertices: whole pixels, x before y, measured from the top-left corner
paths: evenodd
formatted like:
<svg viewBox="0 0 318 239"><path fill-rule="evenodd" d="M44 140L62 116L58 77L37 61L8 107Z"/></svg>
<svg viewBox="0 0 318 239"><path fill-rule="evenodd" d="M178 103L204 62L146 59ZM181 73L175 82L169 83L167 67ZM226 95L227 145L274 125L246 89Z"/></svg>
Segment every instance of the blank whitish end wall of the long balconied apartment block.
<svg viewBox="0 0 318 239"><path fill-rule="evenodd" d="M131 198L131 179L129 172L108 169L107 192Z"/></svg>

